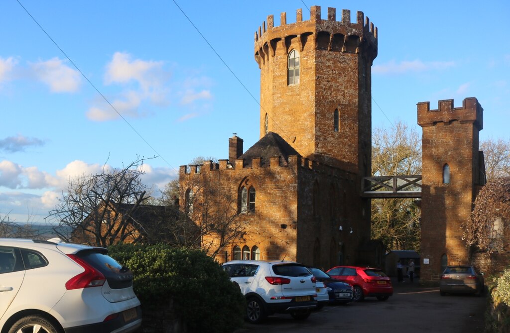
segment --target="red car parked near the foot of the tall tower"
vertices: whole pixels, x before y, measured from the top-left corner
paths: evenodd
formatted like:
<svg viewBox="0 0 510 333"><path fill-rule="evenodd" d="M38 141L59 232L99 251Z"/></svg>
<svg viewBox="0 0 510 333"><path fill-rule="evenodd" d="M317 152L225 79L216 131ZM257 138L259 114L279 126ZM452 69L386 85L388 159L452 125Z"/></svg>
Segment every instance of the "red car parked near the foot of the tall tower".
<svg viewBox="0 0 510 333"><path fill-rule="evenodd" d="M390 278L377 268L336 266L326 273L350 284L354 289L354 301L361 301L367 296L375 296L378 300L385 301L393 295Z"/></svg>

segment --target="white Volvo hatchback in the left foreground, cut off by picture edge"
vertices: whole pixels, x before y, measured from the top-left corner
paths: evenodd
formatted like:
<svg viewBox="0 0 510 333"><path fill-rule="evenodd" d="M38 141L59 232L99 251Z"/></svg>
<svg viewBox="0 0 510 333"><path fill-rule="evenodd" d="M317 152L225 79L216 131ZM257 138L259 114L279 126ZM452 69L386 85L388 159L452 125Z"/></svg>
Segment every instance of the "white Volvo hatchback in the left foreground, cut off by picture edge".
<svg viewBox="0 0 510 333"><path fill-rule="evenodd" d="M1 333L130 333L142 323L133 275L105 248L0 239Z"/></svg>

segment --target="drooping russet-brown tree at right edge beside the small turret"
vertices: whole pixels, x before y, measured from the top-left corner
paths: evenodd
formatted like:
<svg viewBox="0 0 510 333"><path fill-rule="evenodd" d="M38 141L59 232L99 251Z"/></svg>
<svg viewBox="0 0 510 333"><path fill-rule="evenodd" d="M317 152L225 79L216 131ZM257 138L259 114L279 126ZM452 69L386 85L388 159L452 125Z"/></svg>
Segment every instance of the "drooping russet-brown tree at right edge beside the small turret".
<svg viewBox="0 0 510 333"><path fill-rule="evenodd" d="M510 240L510 177L490 179L475 199L471 218L462 224L463 239L472 250L507 250Z"/></svg>

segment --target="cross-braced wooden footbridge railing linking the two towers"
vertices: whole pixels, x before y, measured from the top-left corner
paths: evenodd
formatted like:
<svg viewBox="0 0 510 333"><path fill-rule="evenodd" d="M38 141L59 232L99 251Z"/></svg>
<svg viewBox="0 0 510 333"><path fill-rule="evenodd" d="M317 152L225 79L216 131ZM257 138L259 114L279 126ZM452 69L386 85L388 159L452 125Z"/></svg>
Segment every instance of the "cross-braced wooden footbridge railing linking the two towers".
<svg viewBox="0 0 510 333"><path fill-rule="evenodd" d="M364 177L365 198L421 198L421 175Z"/></svg>

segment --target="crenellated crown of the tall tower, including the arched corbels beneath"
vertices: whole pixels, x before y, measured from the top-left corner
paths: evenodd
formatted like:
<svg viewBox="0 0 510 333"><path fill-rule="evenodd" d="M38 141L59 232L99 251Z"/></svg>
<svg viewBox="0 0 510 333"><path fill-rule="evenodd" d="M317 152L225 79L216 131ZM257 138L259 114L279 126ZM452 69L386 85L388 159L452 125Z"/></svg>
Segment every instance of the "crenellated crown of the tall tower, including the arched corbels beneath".
<svg viewBox="0 0 510 333"><path fill-rule="evenodd" d="M277 50L288 54L292 41L297 41L299 52L305 47L340 53L365 53L371 60L377 56L377 28L357 12L356 22L350 20L350 10L342 10L337 21L336 9L328 8L327 19L321 19L321 7L310 8L310 20L303 21L302 9L296 13L296 22L287 24L287 13L280 16L280 25L274 26L273 15L267 17L255 33L255 59L262 65Z"/></svg>

